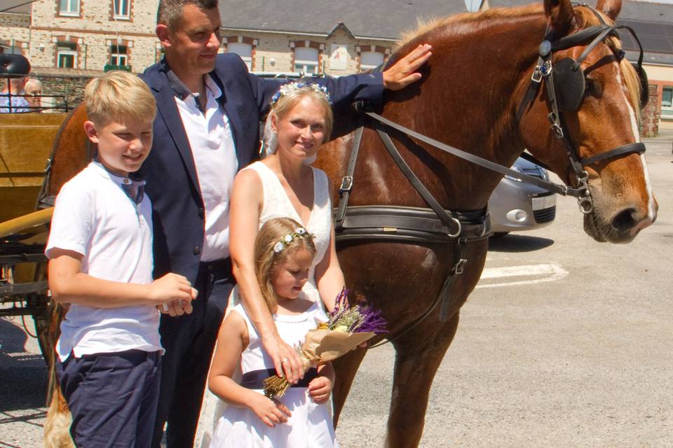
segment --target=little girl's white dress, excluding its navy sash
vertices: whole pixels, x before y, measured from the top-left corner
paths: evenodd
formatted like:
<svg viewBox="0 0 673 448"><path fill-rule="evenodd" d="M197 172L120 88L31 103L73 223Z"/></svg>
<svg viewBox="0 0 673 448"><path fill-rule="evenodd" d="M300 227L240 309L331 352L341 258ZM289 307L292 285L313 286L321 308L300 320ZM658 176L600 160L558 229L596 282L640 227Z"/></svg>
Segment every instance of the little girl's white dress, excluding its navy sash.
<svg viewBox="0 0 673 448"><path fill-rule="evenodd" d="M237 293L236 288L233 293ZM273 361L262 349L259 335L245 314L240 303L232 312L238 312L247 325L250 344L241 355L240 367L245 372L273 368ZM292 346L304 342L308 330L313 330L319 322L327 321L320 303L313 302L311 307L297 316L274 314L278 334ZM264 391L259 390L259 393ZM276 424L274 428L266 426L249 407L229 405L219 418L212 435L212 448L330 448L338 447L332 414L327 404L318 405L308 395L306 387L291 387L280 398L292 416L287 423Z"/></svg>

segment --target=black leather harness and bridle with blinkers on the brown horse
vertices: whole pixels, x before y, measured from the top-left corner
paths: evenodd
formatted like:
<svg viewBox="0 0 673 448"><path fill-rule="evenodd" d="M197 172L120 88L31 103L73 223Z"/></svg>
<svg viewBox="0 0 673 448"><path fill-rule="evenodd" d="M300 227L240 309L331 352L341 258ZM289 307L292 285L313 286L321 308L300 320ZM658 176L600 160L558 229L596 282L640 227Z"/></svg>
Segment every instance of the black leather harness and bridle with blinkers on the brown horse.
<svg viewBox="0 0 673 448"><path fill-rule="evenodd" d="M586 5L582 5L586 6ZM588 6L587 6L588 7ZM419 134L407 127L394 123L377 113L361 111L367 117L367 125L374 128L376 134L383 142L390 157L393 158L395 165L405 175L409 183L423 200L430 206L430 209L418 207L400 207L400 206L351 206L348 207L348 200L353 190L353 175L355 174L355 165L358 160L358 153L360 150L360 143L362 141L362 133L364 127L360 127L355 131L353 145L351 148L351 157L348 160L348 167L346 169L346 176L341 179L341 186L339 187L339 204L335 209L334 228L336 232L337 242L344 241L361 241L367 239L369 241L400 241L407 244L453 244L454 257L451 262L451 268L444 279L442 289L435 300L430 304L430 307L421 314L421 316L414 319L390 335L386 340L374 344L369 348L374 348L391 342L393 339L404 335L405 333L416 327L427 316L433 313L437 305L441 303L440 307L440 322L447 321L449 314L449 290L451 284L456 279L456 276L463 273L463 269L468 260L463 256L463 249L465 244L474 241L487 239L491 234L491 225L489 221L487 208L476 211L451 211L445 210L439 202L433 197L428 189L423 186L423 183L418 179L416 174L407 165L400 152L395 148L395 144L390 139L388 132L396 132L408 137L413 137L416 140L422 141L434 148L440 149L446 153L455 155L458 158L472 162L475 165L491 169L492 171L501 173L506 176L511 176L519 181L531 183L551 193L558 193L560 195L570 195L578 198L578 205L580 211L584 214L589 214L593 210L593 203L590 190L587 185L588 173L583 169L585 165L592 165L597 162L620 158L623 155L632 153L644 153L645 146L642 143L626 144L614 148L605 153L594 155L590 158L579 158L578 151L573 146L572 141L568 137L568 133L564 132L564 121L559 114L560 111L574 111L580 106L585 94L585 73L580 68L580 64L585 57L609 35L617 34L617 29L627 29L634 36L640 47L640 56L637 66L634 64L640 81L641 81L641 108L645 106L648 99L647 78L644 69L642 69L643 49L632 28L626 26L607 25L601 15L590 8L592 12L601 20L601 25L583 29L575 34L563 36L561 38L553 39L552 33L548 30L545 33L545 40L539 45L538 64L533 69L531 76L531 84L519 106L517 112L517 121L524 113L526 106L532 104L537 97L539 87L544 82L547 88L548 102L551 107L551 112L548 119L551 123L551 128L555 132L558 139L564 141L566 146L566 153L569 158L570 165L576 175L578 188L571 188L569 186L559 185L549 181L544 181L537 177L529 176L523 173L516 172L513 169L503 167L490 160L480 158L476 155L466 153L458 148L454 148L447 144L443 144L435 139L430 139L423 134ZM590 41L585 50L581 53L577 61L568 57L560 60L552 66L552 54L557 50L566 50ZM623 51L616 54L618 60L624 57ZM379 67L381 69L381 67ZM553 74L556 73L556 76ZM559 92L558 96L556 92ZM362 106L362 105L356 105ZM409 139L409 144L416 148L423 148ZM536 162L538 165L546 167L545 164L536 160L531 155L524 153L522 157Z"/></svg>

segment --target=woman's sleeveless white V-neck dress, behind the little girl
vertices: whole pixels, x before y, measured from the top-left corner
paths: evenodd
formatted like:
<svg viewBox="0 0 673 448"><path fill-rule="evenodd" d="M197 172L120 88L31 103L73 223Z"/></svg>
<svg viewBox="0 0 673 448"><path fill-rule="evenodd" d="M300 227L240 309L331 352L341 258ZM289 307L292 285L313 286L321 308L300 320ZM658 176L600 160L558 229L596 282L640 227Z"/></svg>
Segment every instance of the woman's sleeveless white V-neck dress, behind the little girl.
<svg viewBox="0 0 673 448"><path fill-rule="evenodd" d="M271 171L271 168L262 162L254 162L245 169L252 169L261 179L264 204L259 214L259 228L271 218L292 218L297 223L303 224L278 176ZM315 257L308 272L308 281L304 285L304 293L313 302L320 302L320 294L315 283L315 266L322 260L329 248L329 238L332 236L332 201L329 199L327 174L322 169L313 167L311 169L313 169L313 207L305 227L315 237L313 239ZM231 306L231 301L229 305Z"/></svg>

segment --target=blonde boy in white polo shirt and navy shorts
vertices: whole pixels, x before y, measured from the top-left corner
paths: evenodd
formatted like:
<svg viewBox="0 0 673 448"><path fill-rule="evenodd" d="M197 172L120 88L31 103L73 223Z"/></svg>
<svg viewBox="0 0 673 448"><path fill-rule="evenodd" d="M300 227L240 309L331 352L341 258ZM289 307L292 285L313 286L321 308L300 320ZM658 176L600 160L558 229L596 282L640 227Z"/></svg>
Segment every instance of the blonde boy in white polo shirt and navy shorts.
<svg viewBox="0 0 673 448"><path fill-rule="evenodd" d="M196 290L176 274L152 281L151 203L130 178L152 146L149 88L109 72L90 81L84 102L97 158L62 187L45 251L53 299L69 304L57 374L78 447L147 447L163 354L158 309L191 312Z"/></svg>

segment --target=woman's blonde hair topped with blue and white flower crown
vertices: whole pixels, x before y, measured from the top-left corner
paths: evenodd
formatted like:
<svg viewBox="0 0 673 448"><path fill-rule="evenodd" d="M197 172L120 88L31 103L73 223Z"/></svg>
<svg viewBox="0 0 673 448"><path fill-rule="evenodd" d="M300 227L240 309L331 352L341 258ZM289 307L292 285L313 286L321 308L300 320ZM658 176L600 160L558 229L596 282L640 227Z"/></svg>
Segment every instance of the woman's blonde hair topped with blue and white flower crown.
<svg viewBox="0 0 673 448"><path fill-rule="evenodd" d="M272 102L271 111L266 117L266 123L264 124L264 148L266 149L267 154L275 153L276 147L278 146L278 134L276 134L271 127L272 117L276 116L278 120L282 120L294 106L297 106L301 99L304 99L304 97L313 99L315 104L322 107L323 118L325 118L325 138L322 143L329 140L329 136L332 135L334 113L332 113L332 106L329 104L329 97L327 94L322 92L320 88L311 87L311 84L290 83L289 85L301 87L293 87L290 89L283 89L285 86L281 87L280 92L276 94L278 95L278 99ZM315 86L315 84L313 86ZM285 90L284 93L283 90Z"/></svg>

